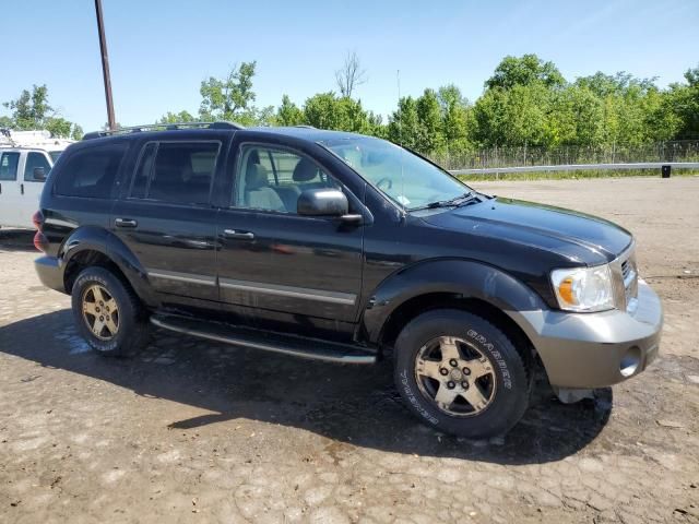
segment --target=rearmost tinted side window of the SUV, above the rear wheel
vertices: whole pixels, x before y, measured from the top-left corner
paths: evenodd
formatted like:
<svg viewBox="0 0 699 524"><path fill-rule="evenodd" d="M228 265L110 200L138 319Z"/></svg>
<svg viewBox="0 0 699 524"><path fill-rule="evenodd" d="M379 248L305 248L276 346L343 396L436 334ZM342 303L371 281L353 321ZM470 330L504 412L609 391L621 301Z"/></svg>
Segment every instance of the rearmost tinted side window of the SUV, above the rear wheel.
<svg viewBox="0 0 699 524"><path fill-rule="evenodd" d="M108 144L79 150L63 164L56 180L56 193L66 196L108 199L127 144Z"/></svg>

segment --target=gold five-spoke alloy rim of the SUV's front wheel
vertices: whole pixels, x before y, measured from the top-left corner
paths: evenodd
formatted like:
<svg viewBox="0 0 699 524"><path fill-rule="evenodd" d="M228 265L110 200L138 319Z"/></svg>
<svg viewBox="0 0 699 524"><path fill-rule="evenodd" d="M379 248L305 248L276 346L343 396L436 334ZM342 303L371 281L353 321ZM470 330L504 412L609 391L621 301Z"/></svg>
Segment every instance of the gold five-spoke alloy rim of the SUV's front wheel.
<svg viewBox="0 0 699 524"><path fill-rule="evenodd" d="M415 380L420 393L452 417L478 415L495 397L496 376L489 358L453 336L438 336L419 349Z"/></svg>

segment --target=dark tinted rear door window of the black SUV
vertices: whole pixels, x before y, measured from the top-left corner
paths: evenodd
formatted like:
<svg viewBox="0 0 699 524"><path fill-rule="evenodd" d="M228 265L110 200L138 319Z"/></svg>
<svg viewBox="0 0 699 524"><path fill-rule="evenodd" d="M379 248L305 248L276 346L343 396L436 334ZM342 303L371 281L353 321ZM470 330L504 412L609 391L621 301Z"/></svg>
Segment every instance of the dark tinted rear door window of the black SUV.
<svg viewBox="0 0 699 524"><path fill-rule="evenodd" d="M130 195L176 204L208 204L220 145L218 142L147 144L134 172Z"/></svg>

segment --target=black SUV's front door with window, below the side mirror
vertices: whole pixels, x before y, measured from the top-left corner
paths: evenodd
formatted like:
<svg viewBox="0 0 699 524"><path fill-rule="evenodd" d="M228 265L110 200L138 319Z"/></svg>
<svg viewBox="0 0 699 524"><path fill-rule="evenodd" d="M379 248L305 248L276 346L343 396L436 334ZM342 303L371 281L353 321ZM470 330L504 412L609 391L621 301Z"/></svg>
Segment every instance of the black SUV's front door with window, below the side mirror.
<svg viewBox="0 0 699 524"><path fill-rule="evenodd" d="M216 231L222 301L262 325L312 331L353 322L363 227L296 214L305 189L341 184L310 157L277 145L242 143L230 155L230 206Z"/></svg>

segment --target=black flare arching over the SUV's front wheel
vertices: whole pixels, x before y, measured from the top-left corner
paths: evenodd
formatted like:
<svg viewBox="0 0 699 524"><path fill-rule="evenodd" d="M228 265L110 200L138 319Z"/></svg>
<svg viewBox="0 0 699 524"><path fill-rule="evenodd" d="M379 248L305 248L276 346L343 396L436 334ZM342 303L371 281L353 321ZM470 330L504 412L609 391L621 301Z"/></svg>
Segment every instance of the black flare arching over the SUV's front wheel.
<svg viewBox="0 0 699 524"><path fill-rule="evenodd" d="M533 289L497 267L461 259L424 261L393 273L371 294L362 321L367 342L379 344L384 324L401 305L435 293L477 298L506 313L546 309Z"/></svg>

